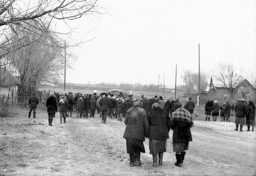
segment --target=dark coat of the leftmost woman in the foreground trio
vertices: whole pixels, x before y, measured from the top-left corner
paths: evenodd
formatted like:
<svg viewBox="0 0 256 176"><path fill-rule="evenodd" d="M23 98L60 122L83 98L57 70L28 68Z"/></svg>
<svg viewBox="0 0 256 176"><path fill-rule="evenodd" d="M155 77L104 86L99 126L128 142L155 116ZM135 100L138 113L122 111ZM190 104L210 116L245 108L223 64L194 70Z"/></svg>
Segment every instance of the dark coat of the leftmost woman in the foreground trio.
<svg viewBox="0 0 256 176"><path fill-rule="evenodd" d="M142 115L137 120L133 120L129 114L126 114L124 124L126 124L123 134L125 139L133 138L145 141L145 137L148 137L150 125L148 124L147 115Z"/></svg>

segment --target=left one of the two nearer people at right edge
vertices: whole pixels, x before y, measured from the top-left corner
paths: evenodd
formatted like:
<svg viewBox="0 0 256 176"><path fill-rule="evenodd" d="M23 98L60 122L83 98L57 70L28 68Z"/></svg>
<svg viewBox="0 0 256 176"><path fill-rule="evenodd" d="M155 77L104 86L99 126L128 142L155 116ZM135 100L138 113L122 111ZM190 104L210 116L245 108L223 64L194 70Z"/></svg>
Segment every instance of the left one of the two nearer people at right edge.
<svg viewBox="0 0 256 176"><path fill-rule="evenodd" d="M240 124L240 132L243 131L243 125L246 124L245 116L247 115L247 106L244 103L244 100L238 100L236 106L234 107L234 111L236 112L236 119L234 123L236 123L236 131L238 131L238 125Z"/></svg>

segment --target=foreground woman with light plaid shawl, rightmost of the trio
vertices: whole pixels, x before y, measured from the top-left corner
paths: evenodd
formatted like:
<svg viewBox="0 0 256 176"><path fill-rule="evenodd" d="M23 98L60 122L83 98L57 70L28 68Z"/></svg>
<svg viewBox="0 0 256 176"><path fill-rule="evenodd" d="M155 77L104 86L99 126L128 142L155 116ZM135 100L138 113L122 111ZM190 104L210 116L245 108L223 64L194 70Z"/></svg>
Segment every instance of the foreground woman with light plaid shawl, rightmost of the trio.
<svg viewBox="0 0 256 176"><path fill-rule="evenodd" d="M173 148L177 160L175 165L181 167L188 149L188 143L192 141L190 128L193 127L194 123L191 114L185 108L182 108L180 102L175 104L175 111L170 116L170 120L172 123L170 128L174 131Z"/></svg>

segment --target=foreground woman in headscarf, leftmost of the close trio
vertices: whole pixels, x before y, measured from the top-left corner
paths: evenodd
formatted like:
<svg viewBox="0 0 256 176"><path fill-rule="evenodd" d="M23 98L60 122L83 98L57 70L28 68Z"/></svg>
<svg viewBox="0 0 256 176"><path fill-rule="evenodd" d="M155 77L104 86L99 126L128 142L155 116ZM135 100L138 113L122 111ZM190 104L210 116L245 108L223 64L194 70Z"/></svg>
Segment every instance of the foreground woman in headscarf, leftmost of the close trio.
<svg viewBox="0 0 256 176"><path fill-rule="evenodd" d="M126 139L127 153L130 154L130 166L141 165L140 153L145 153L143 141L148 137L150 125L142 102L137 101L125 116L126 128L123 137Z"/></svg>

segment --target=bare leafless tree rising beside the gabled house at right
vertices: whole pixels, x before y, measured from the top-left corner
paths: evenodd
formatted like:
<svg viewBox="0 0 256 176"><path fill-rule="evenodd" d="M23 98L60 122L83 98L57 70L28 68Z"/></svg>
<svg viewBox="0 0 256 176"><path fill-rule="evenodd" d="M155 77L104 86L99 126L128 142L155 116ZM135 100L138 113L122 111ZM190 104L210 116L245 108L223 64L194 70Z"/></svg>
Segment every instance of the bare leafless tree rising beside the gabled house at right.
<svg viewBox="0 0 256 176"><path fill-rule="evenodd" d="M214 74L214 77L223 83L231 98L233 98L234 89L242 79L242 71L239 74L234 73L234 71L233 65L220 63L217 67L217 73Z"/></svg>

